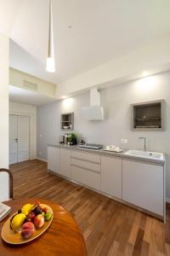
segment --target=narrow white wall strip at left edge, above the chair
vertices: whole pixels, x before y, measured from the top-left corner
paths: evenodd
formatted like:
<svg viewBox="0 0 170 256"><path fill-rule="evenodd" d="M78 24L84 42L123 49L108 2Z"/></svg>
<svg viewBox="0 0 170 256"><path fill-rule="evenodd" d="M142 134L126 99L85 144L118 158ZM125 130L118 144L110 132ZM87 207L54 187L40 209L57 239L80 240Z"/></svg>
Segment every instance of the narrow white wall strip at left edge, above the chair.
<svg viewBox="0 0 170 256"><path fill-rule="evenodd" d="M8 38L0 33L0 167L8 168Z"/></svg>

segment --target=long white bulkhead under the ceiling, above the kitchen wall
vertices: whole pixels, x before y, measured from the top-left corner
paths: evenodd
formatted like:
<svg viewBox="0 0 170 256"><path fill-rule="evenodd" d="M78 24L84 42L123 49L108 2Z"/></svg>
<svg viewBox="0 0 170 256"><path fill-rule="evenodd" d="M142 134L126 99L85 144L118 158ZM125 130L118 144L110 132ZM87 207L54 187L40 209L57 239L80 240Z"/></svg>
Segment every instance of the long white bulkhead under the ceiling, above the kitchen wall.
<svg viewBox="0 0 170 256"><path fill-rule="evenodd" d="M139 79L144 76L144 71L152 74L154 71L158 73L159 70L167 70L170 63L169 44L170 37L160 38L139 49L133 49L127 55L65 80L58 84L56 96L61 98L96 85L104 87L108 83L120 84L120 81L124 83L130 79Z"/></svg>

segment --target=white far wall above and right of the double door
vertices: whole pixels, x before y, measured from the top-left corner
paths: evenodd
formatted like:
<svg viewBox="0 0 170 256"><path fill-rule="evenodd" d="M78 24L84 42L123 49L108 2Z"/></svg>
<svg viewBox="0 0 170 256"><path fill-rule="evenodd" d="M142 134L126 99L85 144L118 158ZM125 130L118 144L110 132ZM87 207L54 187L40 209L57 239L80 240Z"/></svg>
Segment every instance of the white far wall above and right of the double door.
<svg viewBox="0 0 170 256"><path fill-rule="evenodd" d="M30 159L34 159L37 150L37 108L27 104L9 102L9 114L30 117Z"/></svg>

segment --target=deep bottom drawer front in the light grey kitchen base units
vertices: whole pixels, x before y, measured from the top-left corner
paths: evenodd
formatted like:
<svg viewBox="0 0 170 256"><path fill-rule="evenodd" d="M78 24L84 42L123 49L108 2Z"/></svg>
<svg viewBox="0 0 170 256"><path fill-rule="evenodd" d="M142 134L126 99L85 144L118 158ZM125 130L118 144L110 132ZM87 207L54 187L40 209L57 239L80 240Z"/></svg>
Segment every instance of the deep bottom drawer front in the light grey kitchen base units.
<svg viewBox="0 0 170 256"><path fill-rule="evenodd" d="M71 178L94 189L100 189L100 174L77 166L71 166Z"/></svg>

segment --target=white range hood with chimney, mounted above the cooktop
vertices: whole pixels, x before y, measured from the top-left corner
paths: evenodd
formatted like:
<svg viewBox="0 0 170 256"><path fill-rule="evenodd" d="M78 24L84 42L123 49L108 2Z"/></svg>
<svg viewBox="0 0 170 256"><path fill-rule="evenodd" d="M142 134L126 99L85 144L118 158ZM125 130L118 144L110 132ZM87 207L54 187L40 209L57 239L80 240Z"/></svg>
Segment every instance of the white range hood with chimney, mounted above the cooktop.
<svg viewBox="0 0 170 256"><path fill-rule="evenodd" d="M89 121L104 120L104 109L100 106L100 91L98 88L90 90L90 106L82 108L82 116Z"/></svg>

